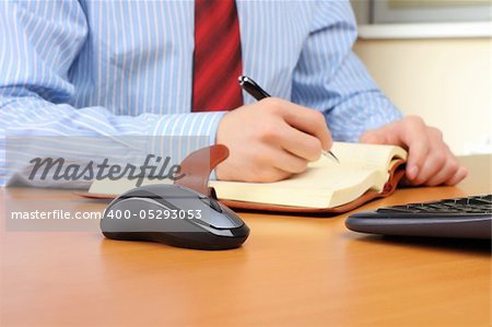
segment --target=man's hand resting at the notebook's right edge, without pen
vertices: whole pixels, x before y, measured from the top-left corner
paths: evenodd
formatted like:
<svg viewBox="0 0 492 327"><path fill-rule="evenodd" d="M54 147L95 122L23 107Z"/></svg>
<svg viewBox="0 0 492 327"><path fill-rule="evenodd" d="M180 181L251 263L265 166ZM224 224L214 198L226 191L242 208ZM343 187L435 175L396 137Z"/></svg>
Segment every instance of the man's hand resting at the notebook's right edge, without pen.
<svg viewBox="0 0 492 327"><path fill-rule="evenodd" d="M399 121L366 131L363 143L394 144L408 150L407 183L410 185L455 185L468 175L449 148L442 132L424 124L422 118L409 116Z"/></svg>

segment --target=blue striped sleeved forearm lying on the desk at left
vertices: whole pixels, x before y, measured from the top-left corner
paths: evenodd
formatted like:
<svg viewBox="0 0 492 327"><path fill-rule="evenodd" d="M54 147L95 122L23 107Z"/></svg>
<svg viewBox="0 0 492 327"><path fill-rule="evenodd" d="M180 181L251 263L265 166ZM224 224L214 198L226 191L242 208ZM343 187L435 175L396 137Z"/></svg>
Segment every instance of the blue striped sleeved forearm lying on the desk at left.
<svg viewBox="0 0 492 327"><path fill-rule="evenodd" d="M45 187L87 187L91 180L27 178L34 157L62 157L85 166L105 159L118 164L142 163L147 155L179 163L189 152L214 143L223 113L116 116L103 107L74 108L37 97L5 100L0 107L2 185L21 182ZM8 164L7 164L8 163Z"/></svg>

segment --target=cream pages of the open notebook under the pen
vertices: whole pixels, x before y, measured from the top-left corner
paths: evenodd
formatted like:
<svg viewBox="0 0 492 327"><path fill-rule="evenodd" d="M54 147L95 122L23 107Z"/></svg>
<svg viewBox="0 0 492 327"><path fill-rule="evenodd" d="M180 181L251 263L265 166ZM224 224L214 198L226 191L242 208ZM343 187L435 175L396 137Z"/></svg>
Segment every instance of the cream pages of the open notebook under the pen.
<svg viewBox="0 0 492 327"><path fill-rule="evenodd" d="M389 178L395 155L406 151L391 145L335 142L331 151L340 163L321 156L306 172L276 183L210 182L219 198L295 206L332 208L350 202L368 189L380 191Z"/></svg>

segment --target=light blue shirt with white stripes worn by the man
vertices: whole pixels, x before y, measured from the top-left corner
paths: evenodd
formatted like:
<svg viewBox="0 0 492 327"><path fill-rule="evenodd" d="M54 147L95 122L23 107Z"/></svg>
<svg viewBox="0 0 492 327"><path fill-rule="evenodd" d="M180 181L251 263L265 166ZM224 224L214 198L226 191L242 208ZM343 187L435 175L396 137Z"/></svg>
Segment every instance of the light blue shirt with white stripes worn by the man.
<svg viewBox="0 0 492 327"><path fill-rule="evenodd" d="M5 136L101 136L114 148L126 147L118 136L213 143L224 113L190 108L194 8L177 0L0 1L0 183L9 179ZM273 96L321 110L335 140L356 141L401 117L352 51L349 1L237 0L237 11L244 74ZM245 104L253 101L244 94Z"/></svg>

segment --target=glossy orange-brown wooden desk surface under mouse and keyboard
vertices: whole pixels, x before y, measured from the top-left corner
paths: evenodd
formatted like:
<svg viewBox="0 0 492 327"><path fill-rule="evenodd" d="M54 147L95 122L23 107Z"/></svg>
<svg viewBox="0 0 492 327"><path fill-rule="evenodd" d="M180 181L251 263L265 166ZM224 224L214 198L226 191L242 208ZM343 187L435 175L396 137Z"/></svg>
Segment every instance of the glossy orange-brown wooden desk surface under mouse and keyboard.
<svg viewBox="0 0 492 327"><path fill-rule="evenodd" d="M401 189L362 209L491 192L491 157L462 162L470 176L458 187ZM62 190L11 188L1 197L3 205L51 199L68 210L105 207ZM110 241L96 232L2 231L0 325L491 323L488 244L356 234L344 227L347 215L241 215L249 240L225 252Z"/></svg>

